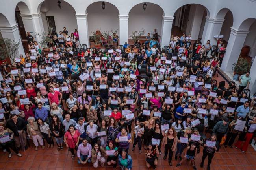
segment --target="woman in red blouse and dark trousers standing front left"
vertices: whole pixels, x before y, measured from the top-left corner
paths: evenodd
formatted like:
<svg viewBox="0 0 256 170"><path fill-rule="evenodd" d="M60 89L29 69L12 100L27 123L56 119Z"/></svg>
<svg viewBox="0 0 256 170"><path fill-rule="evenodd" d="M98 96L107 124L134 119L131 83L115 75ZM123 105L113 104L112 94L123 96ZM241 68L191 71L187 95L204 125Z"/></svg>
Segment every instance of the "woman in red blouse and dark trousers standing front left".
<svg viewBox="0 0 256 170"><path fill-rule="evenodd" d="M78 146L79 138L80 138L80 132L76 130L73 124L71 124L69 126L69 130L67 130L67 132L64 135L64 142L67 148L69 148L70 152L72 153L71 155L72 159L75 158L74 148Z"/></svg>

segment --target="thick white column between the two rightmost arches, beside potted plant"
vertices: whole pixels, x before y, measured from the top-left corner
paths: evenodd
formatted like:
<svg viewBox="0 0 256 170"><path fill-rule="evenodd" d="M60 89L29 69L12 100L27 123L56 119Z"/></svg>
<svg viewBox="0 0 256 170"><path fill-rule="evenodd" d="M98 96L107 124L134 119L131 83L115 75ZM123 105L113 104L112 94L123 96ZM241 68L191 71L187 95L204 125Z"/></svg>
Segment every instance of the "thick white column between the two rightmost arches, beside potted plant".
<svg viewBox="0 0 256 170"><path fill-rule="evenodd" d="M249 32L250 31L239 31L235 28L231 28L228 46L221 64L221 69L224 72L232 72L232 64L237 62L245 42L245 38Z"/></svg>

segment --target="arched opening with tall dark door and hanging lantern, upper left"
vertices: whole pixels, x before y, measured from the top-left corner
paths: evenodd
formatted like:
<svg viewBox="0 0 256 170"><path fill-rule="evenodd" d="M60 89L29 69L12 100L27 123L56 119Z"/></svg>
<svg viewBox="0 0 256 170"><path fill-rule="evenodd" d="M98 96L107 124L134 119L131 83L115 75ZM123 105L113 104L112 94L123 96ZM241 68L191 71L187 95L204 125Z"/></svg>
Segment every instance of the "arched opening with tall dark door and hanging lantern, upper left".
<svg viewBox="0 0 256 170"><path fill-rule="evenodd" d="M61 1L61 9L57 5L58 0L45 0L37 9L41 12L43 30L45 33L53 35L59 34L66 27L68 35L77 29L76 12L72 5L66 1Z"/></svg>

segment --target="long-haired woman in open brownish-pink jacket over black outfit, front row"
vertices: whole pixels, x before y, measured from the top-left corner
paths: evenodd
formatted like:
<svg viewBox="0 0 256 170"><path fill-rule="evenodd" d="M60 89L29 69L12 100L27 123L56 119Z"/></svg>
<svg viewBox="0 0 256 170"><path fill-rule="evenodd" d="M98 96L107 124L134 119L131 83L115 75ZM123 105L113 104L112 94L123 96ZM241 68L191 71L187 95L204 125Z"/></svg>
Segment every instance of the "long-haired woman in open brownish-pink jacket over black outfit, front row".
<svg viewBox="0 0 256 170"><path fill-rule="evenodd" d="M169 128L168 132L165 133L165 136L163 137L163 142L161 143L162 146L165 147L165 155L163 157L163 159L165 160L167 158L167 154L168 154L168 162L169 165L172 166L172 157L173 157L173 152L176 149L178 143L178 137L177 137L177 133L175 131L175 129Z"/></svg>

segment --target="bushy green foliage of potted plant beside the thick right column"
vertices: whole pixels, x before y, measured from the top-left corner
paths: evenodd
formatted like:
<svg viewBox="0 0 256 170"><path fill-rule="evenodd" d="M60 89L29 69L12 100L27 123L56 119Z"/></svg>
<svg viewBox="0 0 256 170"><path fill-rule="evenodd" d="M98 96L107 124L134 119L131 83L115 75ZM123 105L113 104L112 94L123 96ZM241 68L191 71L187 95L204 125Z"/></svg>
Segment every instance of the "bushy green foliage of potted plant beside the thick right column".
<svg viewBox="0 0 256 170"><path fill-rule="evenodd" d="M232 70L239 75L245 74L247 71L250 71L251 63L243 58L239 58L237 63L232 64Z"/></svg>

